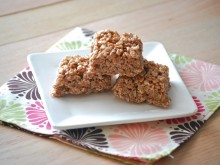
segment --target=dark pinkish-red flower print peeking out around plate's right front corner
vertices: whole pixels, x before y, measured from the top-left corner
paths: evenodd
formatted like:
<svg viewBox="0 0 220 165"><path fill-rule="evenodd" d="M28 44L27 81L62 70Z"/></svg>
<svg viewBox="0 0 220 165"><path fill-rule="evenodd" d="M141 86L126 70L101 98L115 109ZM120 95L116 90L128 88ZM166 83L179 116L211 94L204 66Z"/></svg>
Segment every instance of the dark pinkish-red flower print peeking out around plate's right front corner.
<svg viewBox="0 0 220 165"><path fill-rule="evenodd" d="M167 119L166 120L167 124L180 124L180 123L185 123L185 122L189 122L192 120L203 118L205 115L203 114L205 112L204 106L202 105L200 100L197 99L196 96L193 96L193 100L195 101L197 108L198 108L197 112L194 115L188 116L188 117L176 118L176 119Z"/></svg>

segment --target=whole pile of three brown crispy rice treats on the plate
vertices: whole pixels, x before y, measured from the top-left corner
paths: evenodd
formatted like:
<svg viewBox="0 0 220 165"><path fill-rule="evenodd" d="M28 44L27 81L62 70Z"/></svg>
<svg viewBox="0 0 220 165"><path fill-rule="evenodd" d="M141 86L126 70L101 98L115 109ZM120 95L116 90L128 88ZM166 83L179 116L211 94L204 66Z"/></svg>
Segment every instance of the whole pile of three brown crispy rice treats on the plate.
<svg viewBox="0 0 220 165"><path fill-rule="evenodd" d="M132 33L104 30L94 35L88 57L65 57L53 86L53 96L89 94L112 89L132 103L168 107L169 68L142 56L141 39ZM119 75L112 85L112 76Z"/></svg>

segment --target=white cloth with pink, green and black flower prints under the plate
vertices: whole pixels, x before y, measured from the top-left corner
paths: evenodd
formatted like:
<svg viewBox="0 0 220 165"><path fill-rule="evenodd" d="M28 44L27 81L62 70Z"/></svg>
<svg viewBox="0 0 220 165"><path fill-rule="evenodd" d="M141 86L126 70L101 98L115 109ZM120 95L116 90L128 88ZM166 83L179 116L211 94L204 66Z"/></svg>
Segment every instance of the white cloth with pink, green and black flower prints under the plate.
<svg viewBox="0 0 220 165"><path fill-rule="evenodd" d="M75 28L48 52L88 48L94 32ZM220 107L220 66L170 54L198 110L183 118L145 123L53 129L29 67L0 87L0 123L129 164L151 164L181 146ZM184 100L183 100L184 101Z"/></svg>

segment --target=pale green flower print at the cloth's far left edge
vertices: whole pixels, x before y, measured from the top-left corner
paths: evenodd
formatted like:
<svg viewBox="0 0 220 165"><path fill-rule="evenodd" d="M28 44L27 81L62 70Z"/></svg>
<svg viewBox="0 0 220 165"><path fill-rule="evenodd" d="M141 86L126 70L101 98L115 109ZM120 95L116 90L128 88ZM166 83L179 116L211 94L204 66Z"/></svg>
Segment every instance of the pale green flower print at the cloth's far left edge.
<svg viewBox="0 0 220 165"><path fill-rule="evenodd" d="M22 104L14 101L0 100L0 120L20 124L26 121L25 110Z"/></svg>

